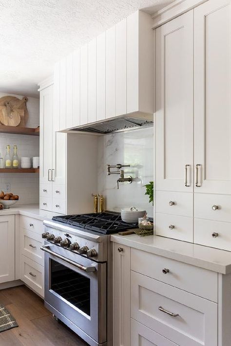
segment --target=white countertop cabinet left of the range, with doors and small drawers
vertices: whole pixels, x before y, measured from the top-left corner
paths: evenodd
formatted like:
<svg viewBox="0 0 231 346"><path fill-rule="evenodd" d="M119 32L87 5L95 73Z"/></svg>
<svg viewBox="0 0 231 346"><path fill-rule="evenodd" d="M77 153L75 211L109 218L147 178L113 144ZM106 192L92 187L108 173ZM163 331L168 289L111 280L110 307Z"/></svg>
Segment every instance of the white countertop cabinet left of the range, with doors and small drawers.
<svg viewBox="0 0 231 346"><path fill-rule="evenodd" d="M54 103L53 82L43 85L39 89L40 209L60 214L92 212L92 193L97 187L97 137L58 132L63 109Z"/></svg>

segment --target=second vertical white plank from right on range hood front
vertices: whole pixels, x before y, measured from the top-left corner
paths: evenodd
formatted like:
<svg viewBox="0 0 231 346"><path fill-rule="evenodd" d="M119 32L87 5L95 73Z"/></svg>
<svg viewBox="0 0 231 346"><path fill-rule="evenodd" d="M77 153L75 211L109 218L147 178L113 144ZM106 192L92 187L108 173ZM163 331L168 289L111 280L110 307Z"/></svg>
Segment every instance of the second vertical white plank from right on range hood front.
<svg viewBox="0 0 231 346"><path fill-rule="evenodd" d="M116 24L116 115L127 113L127 19Z"/></svg>

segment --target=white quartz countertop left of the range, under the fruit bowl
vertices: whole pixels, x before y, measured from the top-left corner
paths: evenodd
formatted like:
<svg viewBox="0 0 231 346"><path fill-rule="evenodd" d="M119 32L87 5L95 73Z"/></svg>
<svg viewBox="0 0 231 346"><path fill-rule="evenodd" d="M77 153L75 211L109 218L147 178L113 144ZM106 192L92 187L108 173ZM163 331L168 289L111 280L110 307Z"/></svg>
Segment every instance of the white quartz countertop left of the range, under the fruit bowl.
<svg viewBox="0 0 231 346"><path fill-rule="evenodd" d="M9 209L0 210L1 215L16 215L21 214L28 216L33 219L44 220L44 219L52 219L54 215L58 215L57 213L49 212L46 210L40 210L39 204L22 204L17 205L14 204Z"/></svg>

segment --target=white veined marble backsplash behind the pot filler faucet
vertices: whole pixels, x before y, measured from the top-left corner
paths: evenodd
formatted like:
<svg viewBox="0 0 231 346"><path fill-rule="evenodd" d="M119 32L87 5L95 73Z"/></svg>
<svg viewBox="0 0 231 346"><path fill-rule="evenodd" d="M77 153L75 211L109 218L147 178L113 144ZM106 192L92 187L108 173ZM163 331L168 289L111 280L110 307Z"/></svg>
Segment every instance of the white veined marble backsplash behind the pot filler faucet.
<svg viewBox="0 0 231 346"><path fill-rule="evenodd" d="M135 206L147 210L148 216L153 217L154 208L143 186L153 181L153 143L153 127L99 137L98 191L106 196L106 209L120 211ZM119 174L107 176L106 164L130 164L130 167L124 167L124 176L131 175L133 182L119 183L117 190Z"/></svg>

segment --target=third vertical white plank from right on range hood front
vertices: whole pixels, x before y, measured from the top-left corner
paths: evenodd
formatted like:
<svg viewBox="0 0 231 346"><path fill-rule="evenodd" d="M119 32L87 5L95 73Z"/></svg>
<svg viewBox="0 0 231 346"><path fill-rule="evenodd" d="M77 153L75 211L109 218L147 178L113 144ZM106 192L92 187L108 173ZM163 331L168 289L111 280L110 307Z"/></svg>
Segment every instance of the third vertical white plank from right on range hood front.
<svg viewBox="0 0 231 346"><path fill-rule="evenodd" d="M116 115L116 26L106 31L106 118Z"/></svg>

